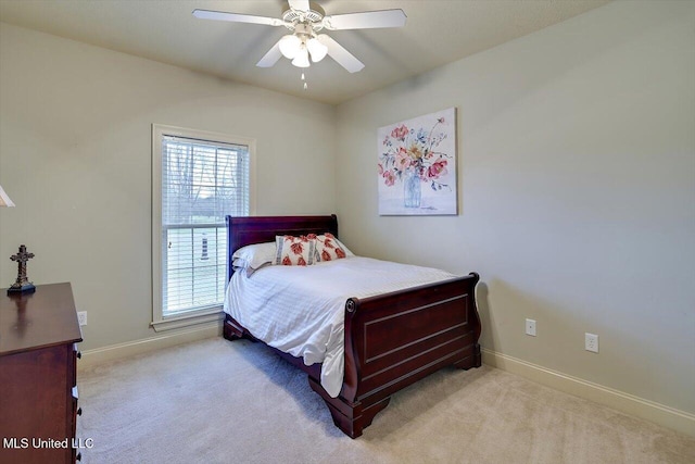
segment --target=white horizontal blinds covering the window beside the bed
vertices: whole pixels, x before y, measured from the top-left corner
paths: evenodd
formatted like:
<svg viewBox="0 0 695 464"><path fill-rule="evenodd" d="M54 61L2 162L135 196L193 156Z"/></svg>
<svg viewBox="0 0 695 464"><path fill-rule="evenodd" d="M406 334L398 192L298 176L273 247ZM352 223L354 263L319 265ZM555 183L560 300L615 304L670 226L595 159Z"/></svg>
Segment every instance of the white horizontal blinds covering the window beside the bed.
<svg viewBox="0 0 695 464"><path fill-rule="evenodd" d="M248 145L162 135L163 318L223 304L225 215L249 215L250 155Z"/></svg>

